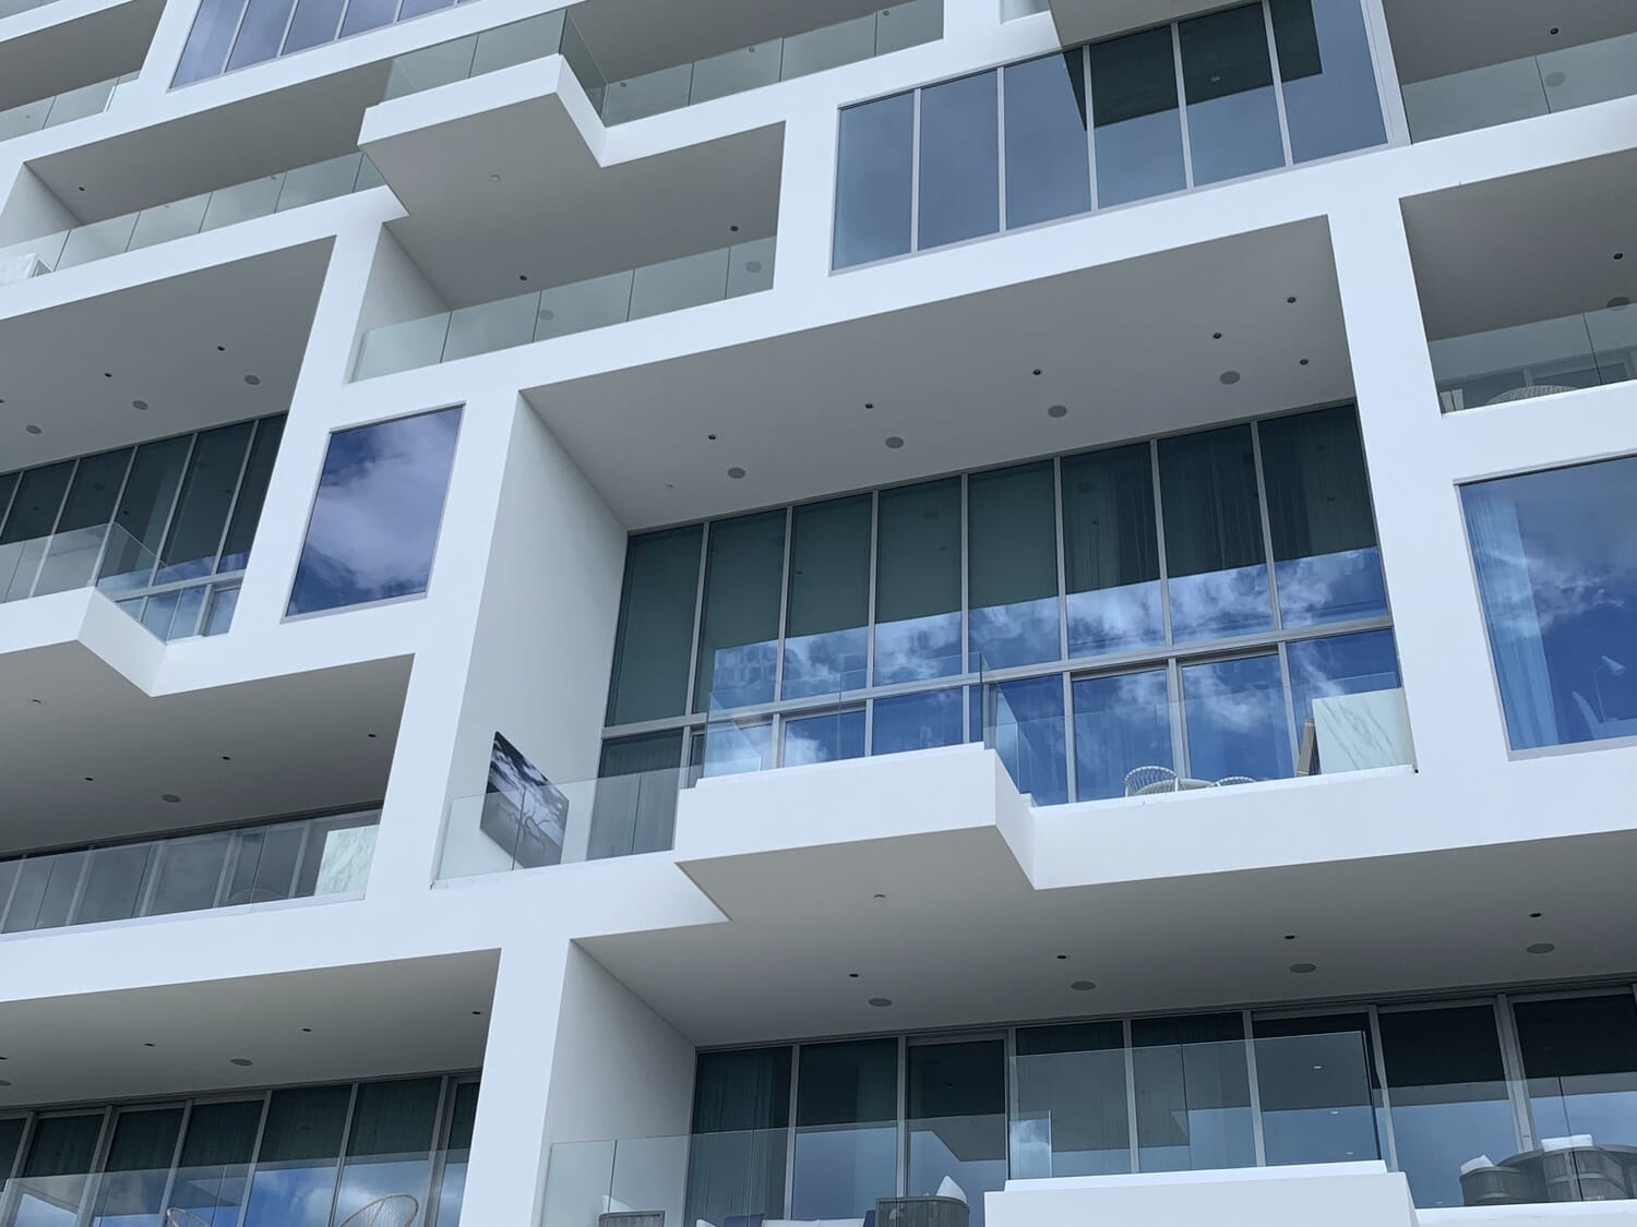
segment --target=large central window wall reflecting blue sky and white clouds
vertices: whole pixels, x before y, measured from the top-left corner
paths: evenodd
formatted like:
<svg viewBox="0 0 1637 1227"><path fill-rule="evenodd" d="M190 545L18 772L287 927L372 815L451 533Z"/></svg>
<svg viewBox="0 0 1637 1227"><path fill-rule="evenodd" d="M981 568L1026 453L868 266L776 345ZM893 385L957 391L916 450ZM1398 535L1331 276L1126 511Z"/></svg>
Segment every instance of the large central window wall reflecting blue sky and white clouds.
<svg viewBox="0 0 1637 1227"><path fill-rule="evenodd" d="M1409 761L1351 406L634 537L614 659L604 775L656 790L977 739L1036 805ZM668 836L645 805L596 854Z"/></svg>

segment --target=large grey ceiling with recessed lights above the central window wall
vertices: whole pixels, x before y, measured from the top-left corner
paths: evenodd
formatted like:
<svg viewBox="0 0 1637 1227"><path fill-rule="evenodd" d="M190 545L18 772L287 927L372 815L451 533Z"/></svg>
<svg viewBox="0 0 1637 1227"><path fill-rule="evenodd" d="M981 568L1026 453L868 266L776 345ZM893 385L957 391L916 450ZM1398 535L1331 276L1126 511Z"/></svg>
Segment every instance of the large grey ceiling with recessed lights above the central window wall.
<svg viewBox="0 0 1637 1227"><path fill-rule="evenodd" d="M1007 242L990 252L1003 258ZM915 260L928 283L948 272L925 255L882 273ZM869 275L833 281L841 293ZM1223 383L1229 371L1238 381ZM655 527L1351 394L1329 232L1300 222L529 398L625 524ZM1053 404L1067 414L1048 416Z"/></svg>

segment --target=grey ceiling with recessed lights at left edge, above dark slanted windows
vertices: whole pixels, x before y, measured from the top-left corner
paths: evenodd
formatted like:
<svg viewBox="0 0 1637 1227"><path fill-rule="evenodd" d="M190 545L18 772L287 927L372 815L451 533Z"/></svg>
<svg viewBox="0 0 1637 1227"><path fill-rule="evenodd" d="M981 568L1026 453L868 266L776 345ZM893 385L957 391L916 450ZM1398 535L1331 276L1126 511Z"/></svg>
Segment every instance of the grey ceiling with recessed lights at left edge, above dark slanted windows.
<svg viewBox="0 0 1637 1227"><path fill-rule="evenodd" d="M313 242L5 319L0 471L286 411L327 262ZM80 273L0 288L0 314Z"/></svg>

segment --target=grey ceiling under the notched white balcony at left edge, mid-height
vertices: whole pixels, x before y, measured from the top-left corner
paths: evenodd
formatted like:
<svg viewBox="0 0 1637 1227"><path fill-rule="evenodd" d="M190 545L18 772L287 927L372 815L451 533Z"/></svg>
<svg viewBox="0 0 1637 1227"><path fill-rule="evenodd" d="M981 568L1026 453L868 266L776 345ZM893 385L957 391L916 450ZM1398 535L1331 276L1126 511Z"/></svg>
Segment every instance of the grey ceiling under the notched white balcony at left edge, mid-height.
<svg viewBox="0 0 1637 1227"><path fill-rule="evenodd" d="M388 659L149 697L80 643L0 653L0 854L380 802L408 682Z"/></svg>

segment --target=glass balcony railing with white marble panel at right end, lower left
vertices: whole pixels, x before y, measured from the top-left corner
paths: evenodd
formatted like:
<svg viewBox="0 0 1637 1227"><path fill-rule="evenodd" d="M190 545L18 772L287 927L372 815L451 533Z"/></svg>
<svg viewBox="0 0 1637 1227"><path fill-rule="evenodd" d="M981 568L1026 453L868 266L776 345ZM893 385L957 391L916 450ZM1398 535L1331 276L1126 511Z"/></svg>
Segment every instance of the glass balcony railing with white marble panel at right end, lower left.
<svg viewBox="0 0 1637 1227"><path fill-rule="evenodd" d="M378 810L0 859L0 933L357 895Z"/></svg>

